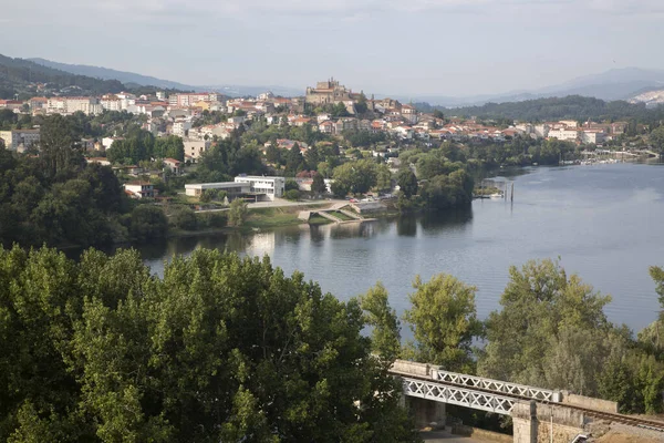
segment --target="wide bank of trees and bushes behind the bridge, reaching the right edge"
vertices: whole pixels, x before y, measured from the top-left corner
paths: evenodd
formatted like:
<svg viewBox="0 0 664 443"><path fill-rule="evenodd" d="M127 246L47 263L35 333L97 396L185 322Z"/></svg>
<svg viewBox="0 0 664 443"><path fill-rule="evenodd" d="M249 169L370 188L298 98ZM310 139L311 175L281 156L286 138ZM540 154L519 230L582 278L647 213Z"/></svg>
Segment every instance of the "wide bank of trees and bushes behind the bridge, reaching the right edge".
<svg viewBox="0 0 664 443"><path fill-rule="evenodd" d="M662 270L653 268L662 292ZM662 295L662 293L661 293ZM502 309L486 321L481 375L619 402L624 412L661 412L662 320L633 339L610 323L610 297L595 292L551 260L510 268Z"/></svg>

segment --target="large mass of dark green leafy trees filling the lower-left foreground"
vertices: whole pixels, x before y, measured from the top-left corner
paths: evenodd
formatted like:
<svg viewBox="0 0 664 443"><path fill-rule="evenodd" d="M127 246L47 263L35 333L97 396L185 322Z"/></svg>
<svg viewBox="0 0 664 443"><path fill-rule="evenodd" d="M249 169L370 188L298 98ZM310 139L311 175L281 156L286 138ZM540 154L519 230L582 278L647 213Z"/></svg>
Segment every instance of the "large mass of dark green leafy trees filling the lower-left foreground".
<svg viewBox="0 0 664 443"><path fill-rule="evenodd" d="M412 442L356 300L212 250L0 249L0 439Z"/></svg>

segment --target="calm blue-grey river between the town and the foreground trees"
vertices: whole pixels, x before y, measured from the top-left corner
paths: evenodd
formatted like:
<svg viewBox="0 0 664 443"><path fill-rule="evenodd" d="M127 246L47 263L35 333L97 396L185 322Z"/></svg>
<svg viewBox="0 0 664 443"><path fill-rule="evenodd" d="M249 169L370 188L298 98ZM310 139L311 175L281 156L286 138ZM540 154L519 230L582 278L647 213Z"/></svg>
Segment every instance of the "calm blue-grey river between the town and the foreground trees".
<svg viewBox="0 0 664 443"><path fill-rule="evenodd" d="M141 251L157 274L174 254L197 247L267 254L287 274L300 270L341 299L380 280L400 313L416 275L447 272L477 287L480 318L499 308L510 265L560 258L569 274L612 296L605 311L613 322L635 331L652 322L658 302L649 267L664 266L664 166L533 167L520 174L497 177L513 181L513 202L475 200L467 210L362 225L177 238Z"/></svg>

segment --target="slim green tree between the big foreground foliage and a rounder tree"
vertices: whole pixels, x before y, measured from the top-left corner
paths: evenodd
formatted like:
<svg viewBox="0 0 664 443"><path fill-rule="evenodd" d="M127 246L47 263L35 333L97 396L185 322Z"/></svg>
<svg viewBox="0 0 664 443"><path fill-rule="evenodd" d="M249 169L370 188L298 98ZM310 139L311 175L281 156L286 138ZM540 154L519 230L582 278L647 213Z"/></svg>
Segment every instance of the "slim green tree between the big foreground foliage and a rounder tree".
<svg viewBox="0 0 664 443"><path fill-rule="evenodd" d="M372 349L391 364L401 354L401 324L387 298L387 290L378 281L365 295L360 296L360 306L364 311L364 321L373 328Z"/></svg>

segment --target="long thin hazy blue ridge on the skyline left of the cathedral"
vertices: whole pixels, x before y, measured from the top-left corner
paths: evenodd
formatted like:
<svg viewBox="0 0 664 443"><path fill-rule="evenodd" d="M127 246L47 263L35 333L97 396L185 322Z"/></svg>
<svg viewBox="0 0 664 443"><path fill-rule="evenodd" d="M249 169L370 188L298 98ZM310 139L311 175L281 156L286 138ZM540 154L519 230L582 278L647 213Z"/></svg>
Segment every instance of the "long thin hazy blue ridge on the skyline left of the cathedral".
<svg viewBox="0 0 664 443"><path fill-rule="evenodd" d="M216 91L229 96L258 95L260 93L272 91L276 95L297 96L302 95L304 89L284 87L279 85L256 85L243 86L235 84L217 84L217 85L190 85L170 80L157 79L149 75L142 75L134 72L116 71L114 69L90 66L86 64L68 64L59 63L44 59L29 59L44 66L54 68L58 70L71 72L73 74L89 75L104 80L120 80L123 83L134 83L137 85L152 85L164 89L175 89L180 91Z"/></svg>

